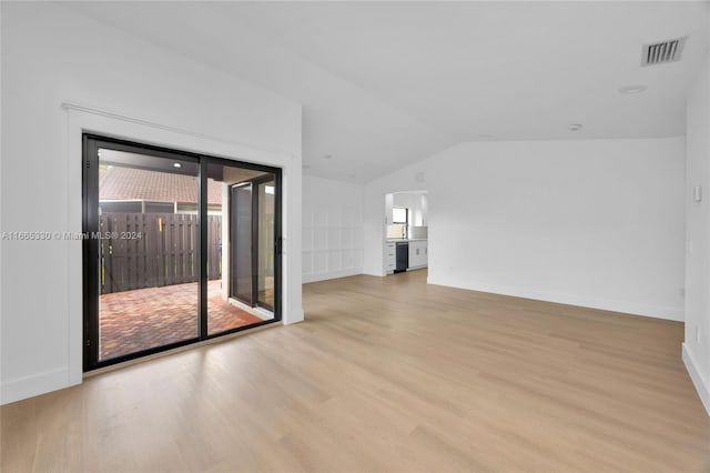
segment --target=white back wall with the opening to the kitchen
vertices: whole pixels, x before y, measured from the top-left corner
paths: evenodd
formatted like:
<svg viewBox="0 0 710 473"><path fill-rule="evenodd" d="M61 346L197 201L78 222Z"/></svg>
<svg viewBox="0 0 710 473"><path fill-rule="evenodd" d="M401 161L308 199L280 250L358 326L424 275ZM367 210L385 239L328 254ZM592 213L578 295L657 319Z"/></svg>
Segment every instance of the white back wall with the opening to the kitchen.
<svg viewBox="0 0 710 473"><path fill-rule="evenodd" d="M365 189L428 190L429 283L682 320L683 139L465 143ZM424 182L422 181L424 177Z"/></svg>

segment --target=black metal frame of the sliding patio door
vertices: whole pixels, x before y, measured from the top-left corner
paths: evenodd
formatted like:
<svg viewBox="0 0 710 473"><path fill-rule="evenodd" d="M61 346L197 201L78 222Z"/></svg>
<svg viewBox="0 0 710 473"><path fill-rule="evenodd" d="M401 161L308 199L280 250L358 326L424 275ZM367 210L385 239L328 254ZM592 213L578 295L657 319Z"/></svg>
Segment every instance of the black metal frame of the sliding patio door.
<svg viewBox="0 0 710 473"><path fill-rule="evenodd" d="M140 350L125 355L115 356L109 360L100 360L99 356L99 296L100 288L100 239L84 238L82 240L82 265L83 265L83 371L91 371L115 363L146 356L153 353L172 350L179 346L196 343L203 340L223 336L254 326L265 325L282 320L282 170L281 168L253 164L248 162L234 161L231 159L216 158L206 154L172 150L162 147L142 144L126 140L101 137L91 133L82 135L82 232L87 235L99 232L99 150L111 149L129 153L164 158L168 160L180 160L193 162L199 169L199 232L197 232L197 266L199 271L199 310L197 336ZM253 323L245 326L222 331L214 334L207 333L207 164L221 164L255 171L263 171L273 174L275 181L274 200L274 308L273 319ZM224 244L224 243L223 243Z"/></svg>

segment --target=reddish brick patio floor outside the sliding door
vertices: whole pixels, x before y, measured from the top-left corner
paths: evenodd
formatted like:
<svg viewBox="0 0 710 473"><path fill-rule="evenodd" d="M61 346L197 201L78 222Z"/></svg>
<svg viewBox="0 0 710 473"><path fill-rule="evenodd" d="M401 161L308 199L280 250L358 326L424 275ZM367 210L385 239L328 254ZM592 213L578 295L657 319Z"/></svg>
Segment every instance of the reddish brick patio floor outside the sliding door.
<svg viewBox="0 0 710 473"><path fill-rule="evenodd" d="M207 283L210 334L262 322L222 300L221 280ZM197 336L197 283L100 296L100 360Z"/></svg>

